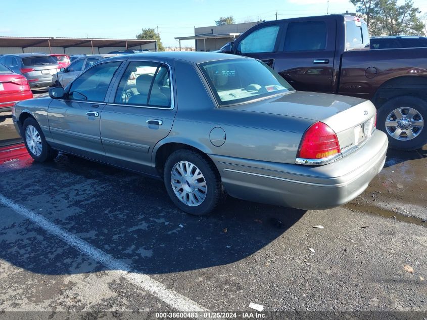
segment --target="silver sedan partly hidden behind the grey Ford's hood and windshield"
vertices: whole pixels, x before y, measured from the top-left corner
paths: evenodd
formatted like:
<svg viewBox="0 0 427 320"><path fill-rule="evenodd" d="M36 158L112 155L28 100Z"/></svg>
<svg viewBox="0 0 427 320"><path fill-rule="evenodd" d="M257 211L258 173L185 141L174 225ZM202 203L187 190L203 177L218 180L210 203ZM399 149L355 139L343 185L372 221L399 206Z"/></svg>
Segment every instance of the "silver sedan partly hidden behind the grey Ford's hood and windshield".
<svg viewBox="0 0 427 320"><path fill-rule="evenodd" d="M61 68L60 72L53 76L53 86L66 87L68 83L74 80L84 70L97 63L98 61L116 57L117 55L87 55L74 60L67 68Z"/></svg>

